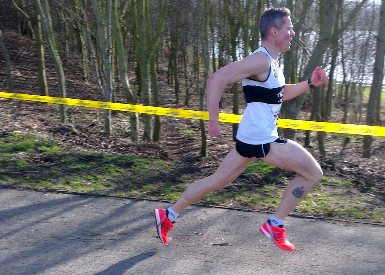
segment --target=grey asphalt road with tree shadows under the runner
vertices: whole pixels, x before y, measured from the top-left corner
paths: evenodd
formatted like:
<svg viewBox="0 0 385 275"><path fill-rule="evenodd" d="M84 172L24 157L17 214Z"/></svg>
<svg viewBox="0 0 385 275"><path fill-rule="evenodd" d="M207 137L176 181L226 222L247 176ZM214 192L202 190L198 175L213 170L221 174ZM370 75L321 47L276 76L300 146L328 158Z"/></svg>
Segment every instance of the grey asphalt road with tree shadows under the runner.
<svg viewBox="0 0 385 275"><path fill-rule="evenodd" d="M0 274L385 274L385 226L288 217L286 252L258 230L269 214L191 206L166 246L166 206L0 188Z"/></svg>

